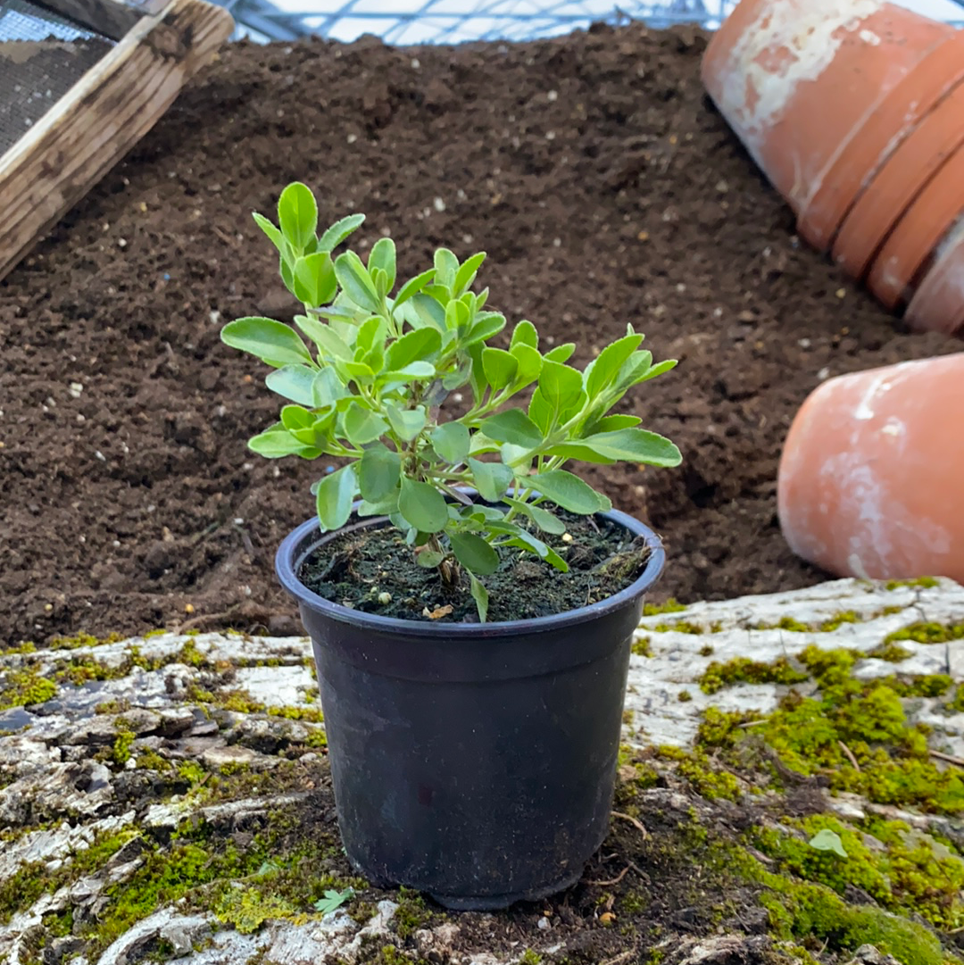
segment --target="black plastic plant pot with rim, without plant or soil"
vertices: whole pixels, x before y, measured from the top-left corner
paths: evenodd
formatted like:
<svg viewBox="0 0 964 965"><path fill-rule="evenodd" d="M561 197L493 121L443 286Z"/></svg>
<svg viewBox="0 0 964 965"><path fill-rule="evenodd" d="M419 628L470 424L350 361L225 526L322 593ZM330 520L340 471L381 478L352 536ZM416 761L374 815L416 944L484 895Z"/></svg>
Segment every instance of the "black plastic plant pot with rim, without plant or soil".
<svg viewBox="0 0 964 965"><path fill-rule="evenodd" d="M582 876L609 826L632 632L666 559L638 520L603 515L647 540L645 571L605 600L534 620L362 613L298 579L335 534L311 519L279 547L278 576L315 650L344 849L372 884L490 910Z"/></svg>

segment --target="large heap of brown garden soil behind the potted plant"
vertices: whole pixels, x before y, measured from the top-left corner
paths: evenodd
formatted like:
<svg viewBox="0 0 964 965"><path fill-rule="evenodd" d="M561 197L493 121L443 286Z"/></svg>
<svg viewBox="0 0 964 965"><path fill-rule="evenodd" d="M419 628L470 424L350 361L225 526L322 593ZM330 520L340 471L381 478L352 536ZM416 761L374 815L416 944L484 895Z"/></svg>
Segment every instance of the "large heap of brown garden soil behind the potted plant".
<svg viewBox="0 0 964 965"><path fill-rule="evenodd" d="M665 538L656 599L825 574L781 538L777 464L821 379L949 352L808 250L702 92L706 37L639 25L523 44L238 43L0 284L0 646L156 626L298 631L275 547L323 471L245 440L278 403L220 327L290 317L252 210L292 179L357 237L488 252L511 320L632 322L674 371L622 403L677 470L589 467Z"/></svg>

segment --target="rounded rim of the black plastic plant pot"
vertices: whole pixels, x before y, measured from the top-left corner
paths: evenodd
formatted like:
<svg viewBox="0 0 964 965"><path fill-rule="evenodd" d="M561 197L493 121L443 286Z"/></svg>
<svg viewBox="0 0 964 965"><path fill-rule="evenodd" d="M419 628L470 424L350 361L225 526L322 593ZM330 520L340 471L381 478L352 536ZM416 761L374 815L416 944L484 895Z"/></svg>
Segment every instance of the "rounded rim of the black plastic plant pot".
<svg viewBox="0 0 964 965"><path fill-rule="evenodd" d="M388 516L364 517L363 521L359 521L355 515L358 506L359 503L352 506L351 518L355 520L355 526L359 526L359 522L362 522L359 528L368 529L389 521ZM607 596L605 599L591 603L589 606L566 610L564 613L551 614L547 617L490 623L432 623L425 620L401 620L399 617L382 617L378 614L353 610L340 603L333 603L331 600L313 593L297 576L301 564L317 548L319 541L323 541L326 537L334 538L337 533L344 532L346 528L342 527L341 530L322 534L318 531L316 516L306 520L281 541L275 554L275 572L285 590L300 605L307 605L316 611L320 611L329 620L338 620L343 623L350 623L353 626L371 627L372 630L380 632L394 631L399 636L422 637L431 640L456 638L470 641L483 637L517 636L540 631L559 630L565 626L598 620L630 605L634 599L646 593L656 583L663 572L663 567L666 565L666 550L663 548L663 542L645 523L625 512L620 512L620 510L607 510L594 513L594 515L602 516L604 519L619 524L623 529L628 530L633 537L645 538L649 549L646 567L628 587L620 590L619 593ZM350 526L351 523L349 522L347 525ZM317 539L309 541L313 534L317 535Z"/></svg>

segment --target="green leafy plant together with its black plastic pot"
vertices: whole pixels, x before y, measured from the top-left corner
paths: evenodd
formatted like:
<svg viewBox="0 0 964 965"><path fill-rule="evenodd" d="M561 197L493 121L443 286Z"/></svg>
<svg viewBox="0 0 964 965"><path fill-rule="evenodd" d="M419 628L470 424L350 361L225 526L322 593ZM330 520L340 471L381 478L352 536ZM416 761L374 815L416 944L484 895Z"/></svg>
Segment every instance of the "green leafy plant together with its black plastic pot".
<svg viewBox="0 0 964 965"><path fill-rule="evenodd" d="M223 329L286 400L249 446L342 462L276 568L314 645L348 858L454 908L560 891L606 835L631 635L664 563L564 466L677 465L611 414L675 362L631 325L582 372L529 321L490 345L506 318L472 290L484 254L441 248L396 290L393 241L335 257L363 216L319 236L303 184L277 226L255 218L305 312Z"/></svg>

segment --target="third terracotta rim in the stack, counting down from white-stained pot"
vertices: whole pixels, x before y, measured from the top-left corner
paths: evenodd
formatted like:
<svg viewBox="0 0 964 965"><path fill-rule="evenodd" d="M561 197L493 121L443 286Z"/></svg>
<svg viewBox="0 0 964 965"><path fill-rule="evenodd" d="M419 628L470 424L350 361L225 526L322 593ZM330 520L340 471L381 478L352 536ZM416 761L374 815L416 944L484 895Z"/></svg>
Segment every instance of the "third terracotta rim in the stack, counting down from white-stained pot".
<svg viewBox="0 0 964 965"><path fill-rule="evenodd" d="M888 236L870 268L870 290L890 309L909 301L919 270L964 211L964 151L938 169Z"/></svg>

